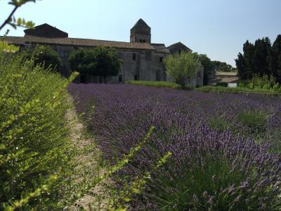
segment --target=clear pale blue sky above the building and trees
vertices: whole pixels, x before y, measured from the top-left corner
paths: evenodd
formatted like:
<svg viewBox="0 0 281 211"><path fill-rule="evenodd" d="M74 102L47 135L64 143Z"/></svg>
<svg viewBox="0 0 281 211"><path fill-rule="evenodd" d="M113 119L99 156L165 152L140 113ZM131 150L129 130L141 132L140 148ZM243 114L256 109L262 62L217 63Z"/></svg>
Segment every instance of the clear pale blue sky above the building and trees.
<svg viewBox="0 0 281 211"><path fill-rule="evenodd" d="M8 0L0 0L1 23L12 9ZM131 27L143 18L153 43L181 41L233 66L246 40L273 42L281 34L281 0L41 0L25 4L15 17L48 23L73 38L114 41L129 41ZM24 32L11 29L8 35Z"/></svg>

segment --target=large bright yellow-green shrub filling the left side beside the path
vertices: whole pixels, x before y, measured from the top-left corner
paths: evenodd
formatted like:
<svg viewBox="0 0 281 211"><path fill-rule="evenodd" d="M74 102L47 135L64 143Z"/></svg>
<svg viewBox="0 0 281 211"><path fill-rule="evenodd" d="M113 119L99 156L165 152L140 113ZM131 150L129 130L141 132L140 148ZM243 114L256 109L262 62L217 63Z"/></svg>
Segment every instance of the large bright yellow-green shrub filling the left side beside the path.
<svg viewBox="0 0 281 211"><path fill-rule="evenodd" d="M60 180L70 168L71 150L65 121L69 81L32 60L1 53L0 70L1 210L34 193L53 174ZM28 209L44 204L50 193L44 194Z"/></svg>

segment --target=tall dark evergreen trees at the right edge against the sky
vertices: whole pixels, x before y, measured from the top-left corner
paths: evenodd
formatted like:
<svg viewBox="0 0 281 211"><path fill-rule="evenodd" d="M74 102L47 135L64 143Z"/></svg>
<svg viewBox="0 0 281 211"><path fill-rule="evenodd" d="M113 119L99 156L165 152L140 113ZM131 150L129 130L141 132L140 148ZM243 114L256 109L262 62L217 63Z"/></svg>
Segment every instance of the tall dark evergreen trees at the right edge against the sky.
<svg viewBox="0 0 281 211"><path fill-rule="evenodd" d="M243 53L235 60L240 79L251 79L254 75L273 75L281 82L281 34L273 44L268 37L257 39L254 44L244 43Z"/></svg>

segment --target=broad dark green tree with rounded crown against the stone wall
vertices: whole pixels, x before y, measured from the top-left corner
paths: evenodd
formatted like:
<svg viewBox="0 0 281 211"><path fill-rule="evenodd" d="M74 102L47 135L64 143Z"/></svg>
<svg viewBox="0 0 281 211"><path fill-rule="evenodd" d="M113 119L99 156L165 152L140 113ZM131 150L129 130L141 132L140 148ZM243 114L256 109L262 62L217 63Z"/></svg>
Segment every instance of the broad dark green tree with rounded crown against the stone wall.
<svg viewBox="0 0 281 211"><path fill-rule="evenodd" d="M81 74L102 76L105 83L108 76L118 75L122 63L115 49L104 46L72 51L68 60L72 70Z"/></svg>

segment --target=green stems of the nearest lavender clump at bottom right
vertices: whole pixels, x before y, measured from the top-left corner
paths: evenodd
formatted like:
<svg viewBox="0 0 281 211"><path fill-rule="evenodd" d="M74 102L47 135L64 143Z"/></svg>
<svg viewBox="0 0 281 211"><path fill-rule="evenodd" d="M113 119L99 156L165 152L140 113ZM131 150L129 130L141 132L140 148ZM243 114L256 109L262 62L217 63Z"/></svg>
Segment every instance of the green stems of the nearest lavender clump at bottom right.
<svg viewBox="0 0 281 211"><path fill-rule="evenodd" d="M162 210L247 210L256 207L251 200L251 197L254 198L252 193L242 192L240 188L241 181L255 177L255 172L246 173L239 168L233 170L228 160L219 155L220 152L217 152L215 158L205 155L202 160L190 160L188 166L182 167L182 175L172 181L159 177L157 181L165 190L153 189L157 205ZM249 197L247 205L242 200L237 203L242 199L239 194ZM266 191L259 194L266 196Z"/></svg>

